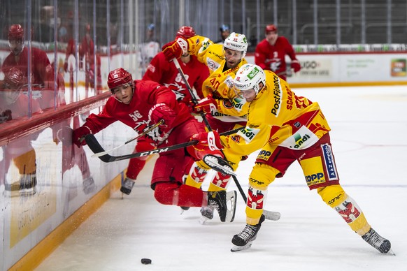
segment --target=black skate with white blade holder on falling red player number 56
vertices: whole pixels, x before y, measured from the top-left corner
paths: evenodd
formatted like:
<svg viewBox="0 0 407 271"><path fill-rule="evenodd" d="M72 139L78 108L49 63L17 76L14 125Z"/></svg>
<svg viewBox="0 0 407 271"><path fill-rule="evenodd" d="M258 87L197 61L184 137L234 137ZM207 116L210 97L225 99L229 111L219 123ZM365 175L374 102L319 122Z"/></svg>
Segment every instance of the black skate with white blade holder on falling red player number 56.
<svg viewBox="0 0 407 271"><path fill-rule="evenodd" d="M220 221L231 222L236 212L236 191L214 191L208 193L208 206L214 207L219 213ZM229 208L227 206L229 203Z"/></svg>

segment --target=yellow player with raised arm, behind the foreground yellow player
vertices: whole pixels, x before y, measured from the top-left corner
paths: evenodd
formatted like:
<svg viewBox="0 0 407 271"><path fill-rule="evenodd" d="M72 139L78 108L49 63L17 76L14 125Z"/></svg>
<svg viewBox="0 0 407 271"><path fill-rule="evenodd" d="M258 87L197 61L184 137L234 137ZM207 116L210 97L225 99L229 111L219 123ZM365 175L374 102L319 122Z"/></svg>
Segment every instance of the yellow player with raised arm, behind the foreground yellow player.
<svg viewBox="0 0 407 271"><path fill-rule="evenodd" d="M169 61L189 52L197 55L199 61L210 69L210 75L203 82L202 87L203 96L206 98L201 99L193 109L196 114L201 112L208 114L206 119L214 131L222 133L245 126L248 104L244 99L236 98L232 87L238 68L247 63L244 59L247 49L248 42L245 35L238 33L230 34L223 45L214 44L209 38L203 36L194 36L187 41L179 37L163 47L163 52ZM236 170L238 163L231 166ZM201 165L192 167L185 184L199 188L207 173ZM226 190L229 179L229 175L216 173L209 184L208 191ZM212 219L213 208L204 207L201 209L201 214L203 218Z"/></svg>

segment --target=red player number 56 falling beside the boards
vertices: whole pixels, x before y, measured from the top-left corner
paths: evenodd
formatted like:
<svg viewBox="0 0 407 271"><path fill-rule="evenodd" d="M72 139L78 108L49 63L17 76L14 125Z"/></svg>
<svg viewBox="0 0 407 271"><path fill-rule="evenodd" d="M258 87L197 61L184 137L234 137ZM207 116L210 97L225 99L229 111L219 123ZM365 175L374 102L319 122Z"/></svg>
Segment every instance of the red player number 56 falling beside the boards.
<svg viewBox="0 0 407 271"><path fill-rule="evenodd" d="M150 142L160 147L176 145L190 139L203 140L201 134L207 135L205 126L190 114L185 104L176 101L175 94L168 87L152 81L133 81L131 74L123 68L110 71L108 87L112 96L108 98L103 110L99 115L90 115L83 126L73 131L72 140L78 147L86 144L84 138L87 134L98 133L116 121L141 133L145 127L164 120L164 124L148 133ZM204 159L208 154L222 157L213 142L218 140L219 134L212 132L202 144L160 153L151 180L155 199L164 205L210 205L217 209L221 221L233 221L236 191L206 192L183 184L183 174L189 159L187 156L192 156L196 161ZM219 158L218 161L222 159ZM227 208L229 200L233 200L230 210Z"/></svg>

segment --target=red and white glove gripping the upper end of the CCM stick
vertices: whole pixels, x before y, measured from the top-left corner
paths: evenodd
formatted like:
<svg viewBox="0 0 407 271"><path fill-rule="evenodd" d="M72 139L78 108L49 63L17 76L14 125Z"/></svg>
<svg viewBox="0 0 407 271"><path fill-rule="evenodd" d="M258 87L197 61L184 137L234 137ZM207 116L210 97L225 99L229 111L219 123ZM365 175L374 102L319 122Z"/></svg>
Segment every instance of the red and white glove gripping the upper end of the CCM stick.
<svg viewBox="0 0 407 271"><path fill-rule="evenodd" d="M196 145L187 147L187 152L196 160L202 160L206 154L222 156L220 149L223 148L217 131L196 133L191 140L198 140Z"/></svg>

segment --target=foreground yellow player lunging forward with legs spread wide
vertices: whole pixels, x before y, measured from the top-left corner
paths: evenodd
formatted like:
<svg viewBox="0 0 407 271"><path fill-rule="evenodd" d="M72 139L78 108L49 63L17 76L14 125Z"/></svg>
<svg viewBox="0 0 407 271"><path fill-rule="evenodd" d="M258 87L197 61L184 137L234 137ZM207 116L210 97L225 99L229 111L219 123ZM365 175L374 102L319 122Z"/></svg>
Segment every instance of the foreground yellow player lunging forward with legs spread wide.
<svg viewBox="0 0 407 271"><path fill-rule="evenodd" d="M329 137L331 129L320 105L297 96L275 73L254 64L239 69L234 87L236 95L250 103L248 124L236 136L221 138L224 155L233 162L261 150L249 176L247 224L231 240L231 251L251 246L264 221L267 187L298 161L308 188L316 189L324 203L338 212L363 240L381 253L388 253L390 241L371 228L362 209L339 184Z"/></svg>

